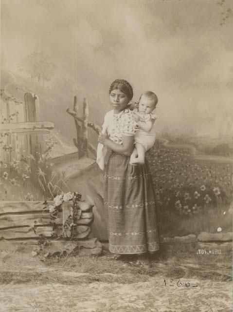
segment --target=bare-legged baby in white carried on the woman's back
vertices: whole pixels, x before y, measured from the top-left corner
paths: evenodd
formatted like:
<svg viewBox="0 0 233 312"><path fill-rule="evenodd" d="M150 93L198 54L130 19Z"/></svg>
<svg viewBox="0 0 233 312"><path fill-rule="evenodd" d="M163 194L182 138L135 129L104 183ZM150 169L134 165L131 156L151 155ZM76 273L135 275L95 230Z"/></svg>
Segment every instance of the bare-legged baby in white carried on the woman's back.
<svg viewBox="0 0 233 312"><path fill-rule="evenodd" d="M144 92L140 99L138 108L133 109L134 118L137 122L138 131L136 132L135 148L130 156L130 164L143 164L145 152L148 151L155 143L155 119L153 114L158 103L156 94L151 91Z"/></svg>

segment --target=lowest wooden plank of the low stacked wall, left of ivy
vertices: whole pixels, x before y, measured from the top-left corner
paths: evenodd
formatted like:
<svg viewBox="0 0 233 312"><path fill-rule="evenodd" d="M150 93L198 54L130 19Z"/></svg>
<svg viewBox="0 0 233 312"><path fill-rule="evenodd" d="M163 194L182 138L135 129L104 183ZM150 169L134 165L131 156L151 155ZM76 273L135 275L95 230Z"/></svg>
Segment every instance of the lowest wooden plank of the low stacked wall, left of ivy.
<svg viewBox="0 0 233 312"><path fill-rule="evenodd" d="M0 238L16 239L16 238L36 238L39 234L43 234L46 237L51 237L53 234L53 226L41 226L36 227L36 234L30 227L18 227L14 229L0 229Z"/></svg>

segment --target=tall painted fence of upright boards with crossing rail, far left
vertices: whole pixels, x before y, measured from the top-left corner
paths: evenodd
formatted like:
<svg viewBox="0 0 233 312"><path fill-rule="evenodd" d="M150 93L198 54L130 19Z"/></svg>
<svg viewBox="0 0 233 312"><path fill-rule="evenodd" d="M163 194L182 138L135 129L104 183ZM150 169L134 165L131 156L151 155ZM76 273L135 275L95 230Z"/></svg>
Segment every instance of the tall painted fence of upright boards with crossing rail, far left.
<svg viewBox="0 0 233 312"><path fill-rule="evenodd" d="M24 103L14 97L1 98L1 160L10 163L22 156L43 153L43 135L54 128L50 121L39 121L39 101L36 95L27 92Z"/></svg>

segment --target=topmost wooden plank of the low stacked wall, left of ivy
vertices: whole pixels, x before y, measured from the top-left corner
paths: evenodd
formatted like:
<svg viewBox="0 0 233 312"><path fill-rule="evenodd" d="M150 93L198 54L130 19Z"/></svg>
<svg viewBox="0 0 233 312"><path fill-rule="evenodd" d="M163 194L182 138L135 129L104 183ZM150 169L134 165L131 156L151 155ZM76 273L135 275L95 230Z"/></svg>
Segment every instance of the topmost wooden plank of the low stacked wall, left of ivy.
<svg viewBox="0 0 233 312"><path fill-rule="evenodd" d="M9 201L0 200L0 215L6 213L31 213L31 212L42 212L43 200L32 200L32 201ZM53 201L47 202L47 207L53 204Z"/></svg>

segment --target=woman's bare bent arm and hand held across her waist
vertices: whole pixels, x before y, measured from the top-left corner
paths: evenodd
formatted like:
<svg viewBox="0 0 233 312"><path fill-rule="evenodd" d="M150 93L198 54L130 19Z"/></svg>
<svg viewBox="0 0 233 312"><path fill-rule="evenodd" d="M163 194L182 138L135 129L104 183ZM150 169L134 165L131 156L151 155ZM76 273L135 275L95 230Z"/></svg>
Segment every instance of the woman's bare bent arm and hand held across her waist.
<svg viewBox="0 0 233 312"><path fill-rule="evenodd" d="M98 137L98 141L104 144L105 146L109 147L114 152L125 155L125 156L130 156L133 152L133 148L134 148L133 136L122 135L123 144L117 144L117 143L114 143L112 140L110 140L107 134L100 134Z"/></svg>

